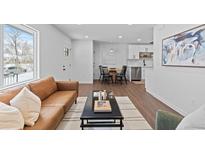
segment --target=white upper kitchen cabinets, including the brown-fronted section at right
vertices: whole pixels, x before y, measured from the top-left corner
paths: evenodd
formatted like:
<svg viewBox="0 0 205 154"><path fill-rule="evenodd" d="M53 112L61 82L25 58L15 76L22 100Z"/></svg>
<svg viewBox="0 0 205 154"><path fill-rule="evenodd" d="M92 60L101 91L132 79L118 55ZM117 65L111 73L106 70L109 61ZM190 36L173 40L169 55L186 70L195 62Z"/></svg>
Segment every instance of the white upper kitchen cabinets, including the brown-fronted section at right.
<svg viewBox="0 0 205 154"><path fill-rule="evenodd" d="M128 59L152 58L153 56L152 45L128 45L128 49Z"/></svg>

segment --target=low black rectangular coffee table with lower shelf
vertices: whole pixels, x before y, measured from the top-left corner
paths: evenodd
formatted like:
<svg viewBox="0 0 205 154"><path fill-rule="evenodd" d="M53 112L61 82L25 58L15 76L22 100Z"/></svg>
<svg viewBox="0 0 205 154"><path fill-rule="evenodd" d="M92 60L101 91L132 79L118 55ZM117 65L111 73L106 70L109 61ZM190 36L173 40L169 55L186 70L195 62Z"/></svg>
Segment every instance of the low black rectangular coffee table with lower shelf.
<svg viewBox="0 0 205 154"><path fill-rule="evenodd" d="M98 97L94 97L93 91L88 95L88 98L85 103L83 113L80 117L82 130L85 127L120 127L122 130L123 125L123 116L120 112L119 106L114 96L107 98L110 101L112 112L94 112L94 102L98 100Z"/></svg>

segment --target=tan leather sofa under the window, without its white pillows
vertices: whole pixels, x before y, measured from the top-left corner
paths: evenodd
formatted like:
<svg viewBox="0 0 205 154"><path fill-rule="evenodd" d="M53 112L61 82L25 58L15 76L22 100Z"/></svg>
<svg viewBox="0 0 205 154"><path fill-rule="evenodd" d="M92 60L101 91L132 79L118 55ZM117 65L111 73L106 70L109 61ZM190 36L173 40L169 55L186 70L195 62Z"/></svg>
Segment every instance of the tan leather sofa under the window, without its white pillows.
<svg viewBox="0 0 205 154"><path fill-rule="evenodd" d="M0 102L8 105L23 88L15 87L0 92ZM53 77L43 78L26 85L41 99L41 111L38 120L32 127L25 130L56 129L64 114L77 100L79 83L77 81L55 81Z"/></svg>

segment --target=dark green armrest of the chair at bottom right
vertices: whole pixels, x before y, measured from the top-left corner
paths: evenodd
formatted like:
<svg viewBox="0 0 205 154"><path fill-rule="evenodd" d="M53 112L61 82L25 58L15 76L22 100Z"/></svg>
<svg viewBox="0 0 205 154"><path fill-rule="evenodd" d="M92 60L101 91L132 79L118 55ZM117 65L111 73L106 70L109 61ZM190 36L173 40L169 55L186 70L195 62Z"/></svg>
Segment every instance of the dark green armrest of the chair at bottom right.
<svg viewBox="0 0 205 154"><path fill-rule="evenodd" d="M157 130L174 130L183 119L177 114L158 110L155 119L155 129Z"/></svg>

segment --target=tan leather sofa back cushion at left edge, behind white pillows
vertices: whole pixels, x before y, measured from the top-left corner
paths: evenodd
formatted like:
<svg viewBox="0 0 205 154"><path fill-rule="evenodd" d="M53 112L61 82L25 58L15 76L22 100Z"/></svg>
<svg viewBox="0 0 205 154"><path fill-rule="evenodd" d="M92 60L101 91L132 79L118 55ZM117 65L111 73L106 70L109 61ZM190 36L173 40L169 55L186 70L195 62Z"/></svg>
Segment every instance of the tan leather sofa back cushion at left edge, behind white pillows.
<svg viewBox="0 0 205 154"><path fill-rule="evenodd" d="M10 105L10 100L13 99L24 87L27 87L29 89L29 86L20 86L20 87L14 87L10 88L8 90L4 90L0 92L0 101Z"/></svg>

